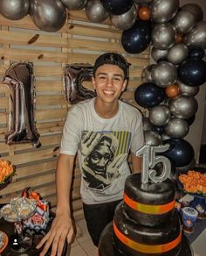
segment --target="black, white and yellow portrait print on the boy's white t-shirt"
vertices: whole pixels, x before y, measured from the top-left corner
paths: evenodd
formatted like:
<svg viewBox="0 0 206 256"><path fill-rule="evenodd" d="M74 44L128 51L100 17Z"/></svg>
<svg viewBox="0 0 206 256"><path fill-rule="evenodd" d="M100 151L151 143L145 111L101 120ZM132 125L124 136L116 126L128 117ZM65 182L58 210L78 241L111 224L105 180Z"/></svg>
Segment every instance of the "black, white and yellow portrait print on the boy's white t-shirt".
<svg viewBox="0 0 206 256"><path fill-rule="evenodd" d="M82 170L87 188L102 193L120 176L119 167L127 160L130 142L130 132L82 133Z"/></svg>

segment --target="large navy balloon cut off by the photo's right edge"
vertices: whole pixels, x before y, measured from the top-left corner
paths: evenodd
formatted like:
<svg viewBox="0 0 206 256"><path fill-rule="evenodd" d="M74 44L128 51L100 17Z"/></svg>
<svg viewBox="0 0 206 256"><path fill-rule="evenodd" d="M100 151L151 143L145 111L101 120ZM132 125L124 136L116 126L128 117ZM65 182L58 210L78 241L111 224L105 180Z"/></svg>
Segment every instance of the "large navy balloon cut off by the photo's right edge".
<svg viewBox="0 0 206 256"><path fill-rule="evenodd" d="M189 86L199 86L206 82L206 62L197 58L184 60L177 68L179 80Z"/></svg>

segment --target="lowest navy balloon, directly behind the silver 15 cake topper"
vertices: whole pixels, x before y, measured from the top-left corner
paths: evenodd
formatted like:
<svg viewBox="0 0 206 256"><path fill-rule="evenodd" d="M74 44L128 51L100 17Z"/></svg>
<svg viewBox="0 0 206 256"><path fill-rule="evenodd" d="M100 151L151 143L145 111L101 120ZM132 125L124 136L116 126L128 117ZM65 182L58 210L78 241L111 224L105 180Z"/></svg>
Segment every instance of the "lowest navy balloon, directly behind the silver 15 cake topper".
<svg viewBox="0 0 206 256"><path fill-rule="evenodd" d="M169 148L162 153L169 160L175 163L175 167L185 167L194 159L194 149L185 139L167 139L164 144L168 144Z"/></svg>

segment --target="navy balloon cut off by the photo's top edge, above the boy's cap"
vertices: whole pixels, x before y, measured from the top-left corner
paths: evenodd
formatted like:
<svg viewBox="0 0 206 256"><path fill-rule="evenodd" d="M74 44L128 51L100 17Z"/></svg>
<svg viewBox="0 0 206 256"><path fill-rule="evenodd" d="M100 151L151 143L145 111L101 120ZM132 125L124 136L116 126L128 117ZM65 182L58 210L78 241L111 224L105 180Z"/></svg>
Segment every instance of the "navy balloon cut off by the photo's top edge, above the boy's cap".
<svg viewBox="0 0 206 256"><path fill-rule="evenodd" d="M129 11L134 0L100 0L105 10L113 15L121 15Z"/></svg>

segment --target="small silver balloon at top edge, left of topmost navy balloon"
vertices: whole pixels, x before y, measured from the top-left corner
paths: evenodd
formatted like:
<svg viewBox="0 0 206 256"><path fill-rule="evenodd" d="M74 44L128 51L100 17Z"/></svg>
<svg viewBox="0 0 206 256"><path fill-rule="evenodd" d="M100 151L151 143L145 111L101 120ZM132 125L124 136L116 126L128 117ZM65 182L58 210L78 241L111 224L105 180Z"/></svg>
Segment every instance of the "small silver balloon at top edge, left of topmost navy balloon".
<svg viewBox="0 0 206 256"><path fill-rule="evenodd" d="M100 0L89 0L86 4L86 16L93 22L103 22L108 18L109 14L100 3Z"/></svg>

